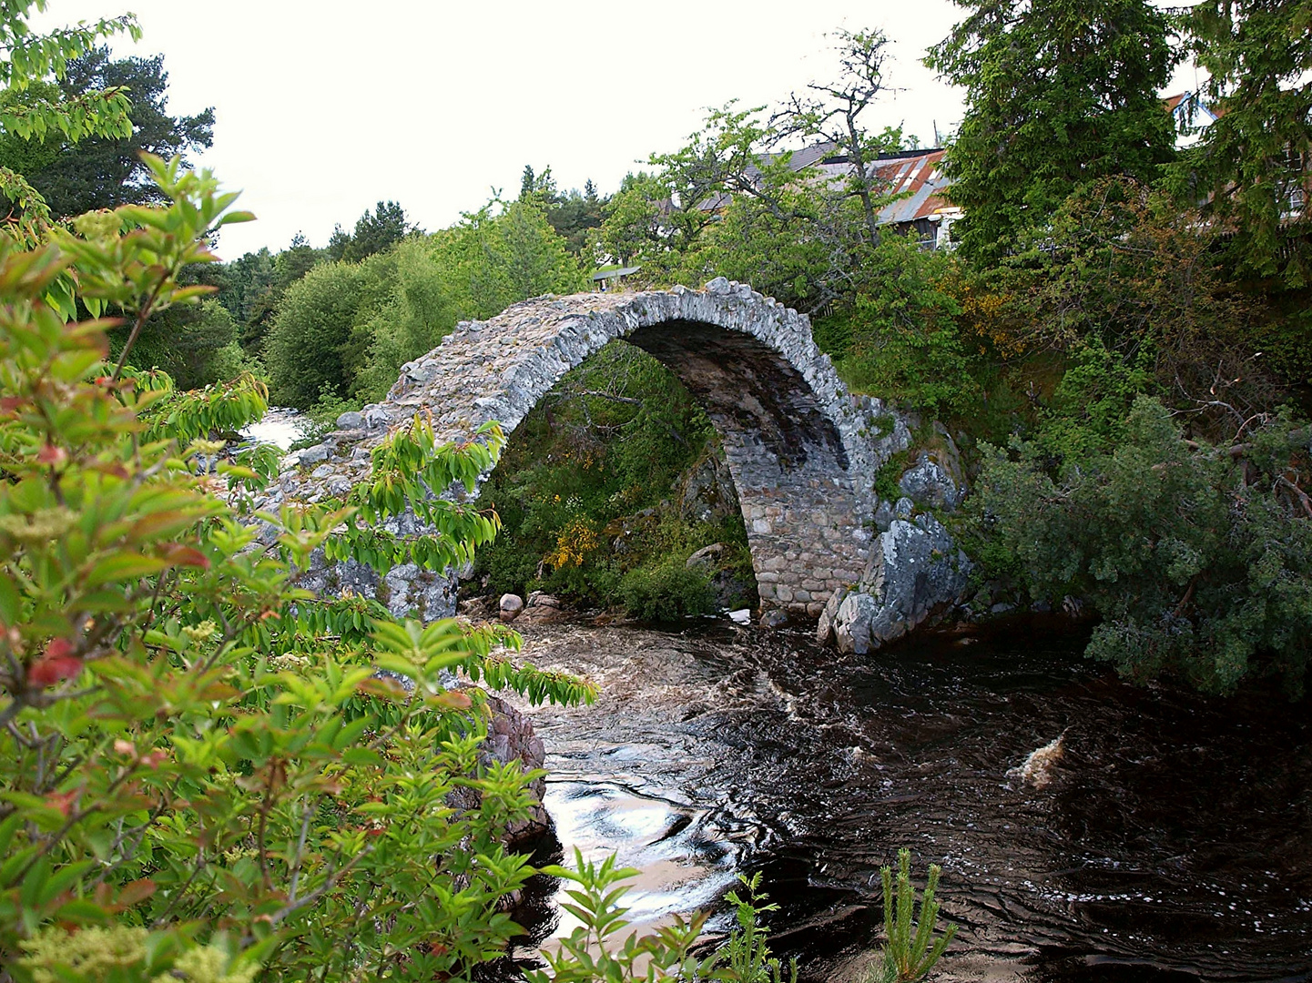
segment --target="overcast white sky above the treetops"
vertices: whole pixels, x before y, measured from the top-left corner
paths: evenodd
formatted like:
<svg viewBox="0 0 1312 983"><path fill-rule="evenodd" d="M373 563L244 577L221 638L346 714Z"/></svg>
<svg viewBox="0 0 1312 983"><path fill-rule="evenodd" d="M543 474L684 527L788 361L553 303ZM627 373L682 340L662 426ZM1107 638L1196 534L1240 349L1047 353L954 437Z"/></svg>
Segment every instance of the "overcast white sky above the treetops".
<svg viewBox="0 0 1312 983"><path fill-rule="evenodd" d="M173 114L214 106L199 163L260 218L224 231L224 259L297 231L323 245L379 199L441 228L493 186L517 193L525 164L609 192L705 108L832 77L840 26L893 41L900 91L871 125L928 144L962 113L918 60L960 13L947 0L51 0L38 24L129 9L144 37L115 54L164 54Z"/></svg>

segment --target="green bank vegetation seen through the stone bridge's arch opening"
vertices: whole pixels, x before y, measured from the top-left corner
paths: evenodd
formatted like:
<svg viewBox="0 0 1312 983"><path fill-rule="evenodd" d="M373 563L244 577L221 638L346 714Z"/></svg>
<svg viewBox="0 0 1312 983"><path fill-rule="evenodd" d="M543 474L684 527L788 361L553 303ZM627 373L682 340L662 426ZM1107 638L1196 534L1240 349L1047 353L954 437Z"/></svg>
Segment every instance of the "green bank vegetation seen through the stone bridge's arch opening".
<svg viewBox="0 0 1312 983"><path fill-rule="evenodd" d="M502 522L471 571L484 595L533 585L655 619L760 602L715 427L669 369L626 340L567 371L525 415L478 504Z"/></svg>

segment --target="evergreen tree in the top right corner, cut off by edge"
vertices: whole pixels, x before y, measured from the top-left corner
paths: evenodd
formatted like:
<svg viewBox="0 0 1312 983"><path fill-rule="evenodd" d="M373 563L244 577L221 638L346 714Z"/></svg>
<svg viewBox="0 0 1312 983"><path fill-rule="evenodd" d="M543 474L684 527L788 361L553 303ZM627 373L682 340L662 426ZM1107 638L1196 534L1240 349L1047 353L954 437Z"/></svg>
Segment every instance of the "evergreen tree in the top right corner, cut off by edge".
<svg viewBox="0 0 1312 983"><path fill-rule="evenodd" d="M1173 176L1232 230L1249 273L1312 285L1312 3L1204 0L1185 29L1220 118Z"/></svg>

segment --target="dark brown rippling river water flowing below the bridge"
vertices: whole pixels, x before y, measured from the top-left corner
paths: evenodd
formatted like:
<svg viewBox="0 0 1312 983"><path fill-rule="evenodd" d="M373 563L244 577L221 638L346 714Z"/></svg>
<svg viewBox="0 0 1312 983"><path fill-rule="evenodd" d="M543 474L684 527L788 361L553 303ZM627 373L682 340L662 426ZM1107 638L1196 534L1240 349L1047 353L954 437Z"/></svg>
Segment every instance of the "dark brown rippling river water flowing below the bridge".
<svg viewBox="0 0 1312 983"><path fill-rule="evenodd" d="M639 868L640 925L761 870L777 953L855 980L908 847L959 925L941 979L1312 978L1308 701L1131 688L1039 625L865 656L720 623L525 638L601 685L530 714L567 854ZM1047 787L1008 776L1063 734Z"/></svg>

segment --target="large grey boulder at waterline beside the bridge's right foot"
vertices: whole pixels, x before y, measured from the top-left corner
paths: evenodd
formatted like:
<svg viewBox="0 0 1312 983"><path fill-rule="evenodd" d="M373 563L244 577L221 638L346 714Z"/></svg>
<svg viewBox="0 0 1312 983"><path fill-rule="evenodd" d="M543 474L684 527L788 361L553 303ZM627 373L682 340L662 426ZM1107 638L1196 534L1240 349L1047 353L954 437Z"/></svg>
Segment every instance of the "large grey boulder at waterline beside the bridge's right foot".
<svg viewBox="0 0 1312 983"><path fill-rule="evenodd" d="M857 589L829 598L816 634L844 652L878 648L956 605L970 572L971 562L937 518L895 520L875 541Z"/></svg>

